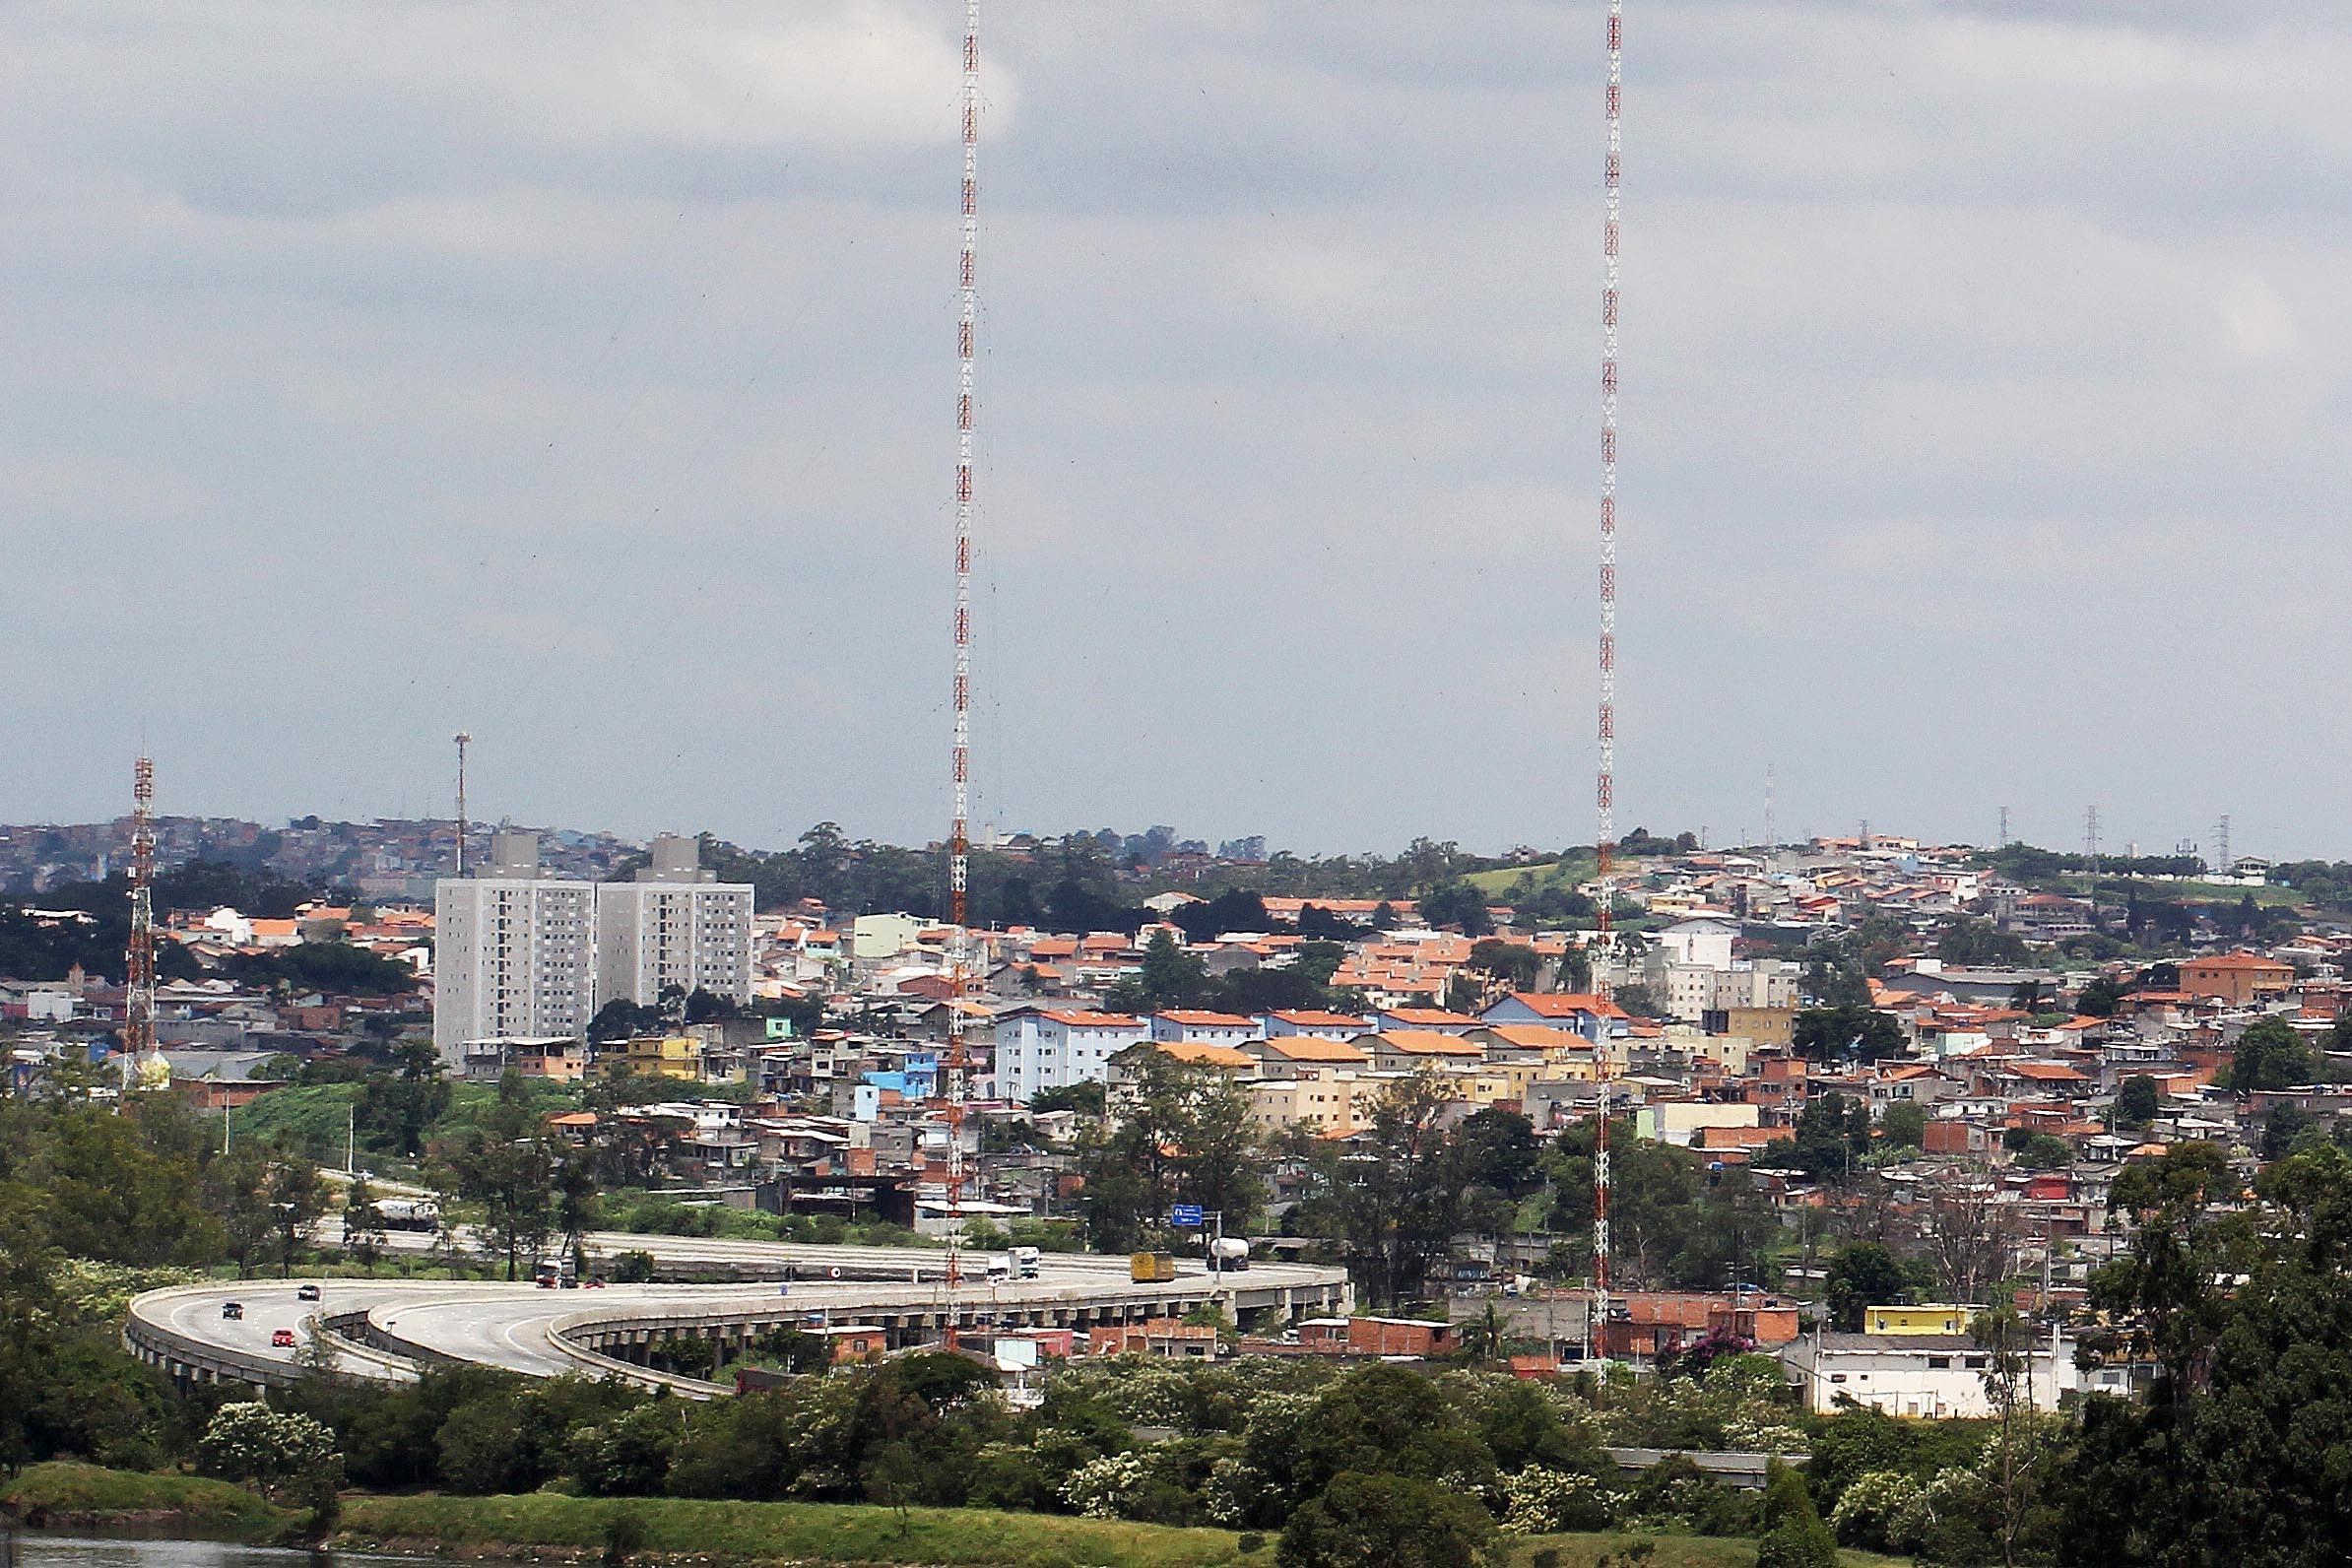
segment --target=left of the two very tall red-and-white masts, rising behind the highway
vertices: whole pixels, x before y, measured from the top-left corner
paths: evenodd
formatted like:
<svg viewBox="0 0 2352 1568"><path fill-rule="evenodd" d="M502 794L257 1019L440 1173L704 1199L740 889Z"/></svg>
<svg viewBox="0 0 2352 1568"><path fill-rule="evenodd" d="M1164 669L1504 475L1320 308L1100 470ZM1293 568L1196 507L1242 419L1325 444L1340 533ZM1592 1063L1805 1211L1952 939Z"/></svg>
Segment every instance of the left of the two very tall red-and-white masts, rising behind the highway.
<svg viewBox="0 0 2352 1568"><path fill-rule="evenodd" d="M964 259L955 322L955 827L948 835L948 1060L941 1093L948 1110L948 1349L955 1349L955 1288L964 1279L964 1095L971 1048L964 1039L964 992L971 985L971 336L978 327L981 249L981 0L964 0Z"/></svg>

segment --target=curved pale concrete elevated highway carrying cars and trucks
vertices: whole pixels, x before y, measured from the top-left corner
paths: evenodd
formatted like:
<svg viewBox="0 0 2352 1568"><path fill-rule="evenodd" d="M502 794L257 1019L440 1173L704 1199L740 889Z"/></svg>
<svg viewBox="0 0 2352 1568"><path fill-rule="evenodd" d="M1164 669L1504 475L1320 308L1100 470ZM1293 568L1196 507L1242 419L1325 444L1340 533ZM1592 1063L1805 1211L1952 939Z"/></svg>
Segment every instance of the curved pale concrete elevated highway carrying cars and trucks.
<svg viewBox="0 0 2352 1568"><path fill-rule="evenodd" d="M548 1291L532 1284L292 1279L176 1286L132 1302L122 1338L141 1359L179 1378L292 1382L320 1356L346 1378L414 1380L428 1363L470 1361L548 1378L619 1375L713 1394L713 1385L635 1366L666 1338L741 1342L779 1326L873 1324L891 1345L941 1338L953 1316L964 1328L993 1324L1084 1331L1181 1314L1207 1300L1289 1319L1345 1309L1343 1269L1256 1265L1207 1274L1178 1265L1162 1284L1134 1284L1127 1258L1049 1253L1040 1276L964 1276L953 1300L946 1253L936 1248L790 1246L691 1237L597 1234L602 1253L642 1248L663 1267L767 1274L764 1284L607 1286ZM981 1265L981 1255L967 1255ZM776 1276L790 1269L793 1281ZM837 1274L835 1274L837 1272ZM299 1298L318 1286L320 1300ZM242 1316L223 1316L238 1302ZM292 1345L275 1342L280 1331Z"/></svg>

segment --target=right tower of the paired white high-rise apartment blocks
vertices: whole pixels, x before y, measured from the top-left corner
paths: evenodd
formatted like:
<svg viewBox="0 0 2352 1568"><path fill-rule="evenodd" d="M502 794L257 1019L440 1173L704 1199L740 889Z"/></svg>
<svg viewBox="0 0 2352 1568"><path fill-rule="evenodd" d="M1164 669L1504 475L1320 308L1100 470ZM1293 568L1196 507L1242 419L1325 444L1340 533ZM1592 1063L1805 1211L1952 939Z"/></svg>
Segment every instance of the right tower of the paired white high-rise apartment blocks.
<svg viewBox="0 0 2352 1568"><path fill-rule="evenodd" d="M635 882L595 891L595 999L652 1006L663 985L750 1001L753 889L717 882L694 839L661 835Z"/></svg>

